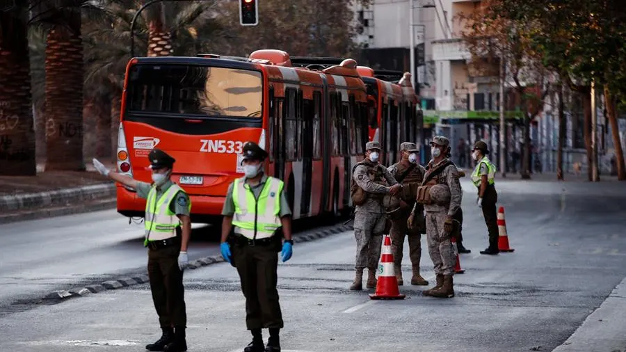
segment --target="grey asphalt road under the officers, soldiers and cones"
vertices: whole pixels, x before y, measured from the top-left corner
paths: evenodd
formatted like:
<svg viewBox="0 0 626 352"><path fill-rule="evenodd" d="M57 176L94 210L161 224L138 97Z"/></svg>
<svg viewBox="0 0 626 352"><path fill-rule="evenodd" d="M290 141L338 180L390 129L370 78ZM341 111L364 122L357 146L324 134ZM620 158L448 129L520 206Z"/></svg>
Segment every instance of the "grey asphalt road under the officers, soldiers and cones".
<svg viewBox="0 0 626 352"><path fill-rule="evenodd" d="M295 246L279 267L283 351L551 351L563 344L626 276L626 186L497 186L515 252L478 254L487 243L485 225L463 182L463 234L472 253L460 257L466 271L455 276L455 298L426 298L425 287L410 285L401 287L403 301L371 301L373 289L349 291L355 250L349 232ZM0 227L2 294L5 287L15 294L24 285L49 288L59 278L87 280L145 264L136 230L125 230L123 218L95 222L92 215L95 227L70 218ZM426 239L422 245L422 275L432 282ZM217 253L214 243L205 246ZM214 264L188 271L185 280L189 351L242 351L250 337L236 271ZM0 331L3 350L47 352L142 351L160 333L147 285L6 314Z"/></svg>

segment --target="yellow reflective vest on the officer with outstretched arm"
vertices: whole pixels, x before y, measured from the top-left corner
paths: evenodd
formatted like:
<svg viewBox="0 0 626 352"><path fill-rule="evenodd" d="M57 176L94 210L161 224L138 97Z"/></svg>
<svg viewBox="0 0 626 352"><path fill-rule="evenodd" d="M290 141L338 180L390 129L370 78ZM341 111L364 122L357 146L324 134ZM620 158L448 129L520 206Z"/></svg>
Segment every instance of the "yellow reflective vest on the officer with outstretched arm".
<svg viewBox="0 0 626 352"><path fill-rule="evenodd" d="M145 202L145 237L144 241L159 241L176 237L176 227L180 226L179 218L170 210L170 202L179 191L183 191L179 185L172 184L161 198L157 200L157 186L152 186ZM191 211L191 200L187 205Z"/></svg>

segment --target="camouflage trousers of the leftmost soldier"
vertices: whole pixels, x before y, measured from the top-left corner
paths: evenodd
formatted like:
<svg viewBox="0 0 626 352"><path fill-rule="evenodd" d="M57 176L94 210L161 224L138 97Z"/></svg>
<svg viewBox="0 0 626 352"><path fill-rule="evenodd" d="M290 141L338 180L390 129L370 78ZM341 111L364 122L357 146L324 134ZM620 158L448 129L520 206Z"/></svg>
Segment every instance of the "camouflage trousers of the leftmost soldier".
<svg viewBox="0 0 626 352"><path fill-rule="evenodd" d="M355 269L378 268L380 247L383 245L385 214L357 211L354 216L354 237L357 240Z"/></svg>

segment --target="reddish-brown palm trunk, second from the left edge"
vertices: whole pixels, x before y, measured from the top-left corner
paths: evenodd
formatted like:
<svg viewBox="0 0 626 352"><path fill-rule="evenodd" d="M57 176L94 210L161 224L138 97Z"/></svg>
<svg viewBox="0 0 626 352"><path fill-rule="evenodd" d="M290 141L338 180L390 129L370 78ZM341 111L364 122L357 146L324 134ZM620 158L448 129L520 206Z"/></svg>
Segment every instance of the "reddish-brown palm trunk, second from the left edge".
<svg viewBox="0 0 626 352"><path fill-rule="evenodd" d="M55 26L46 42L46 170L85 170L83 161L83 42L80 13L73 31ZM76 25L78 24L78 25Z"/></svg>

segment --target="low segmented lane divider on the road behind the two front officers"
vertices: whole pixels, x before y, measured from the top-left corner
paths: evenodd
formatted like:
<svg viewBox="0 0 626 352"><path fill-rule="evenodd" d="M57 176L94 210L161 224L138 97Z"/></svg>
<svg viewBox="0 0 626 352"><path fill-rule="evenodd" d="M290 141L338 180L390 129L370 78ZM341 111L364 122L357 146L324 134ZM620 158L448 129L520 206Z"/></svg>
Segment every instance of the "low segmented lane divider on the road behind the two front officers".
<svg viewBox="0 0 626 352"><path fill-rule="evenodd" d="M325 237L330 237L333 234L340 234L342 232L353 230L352 226L343 225L339 223L338 225L334 225L330 228L326 228L324 230L319 230L312 233L307 234L294 234L294 243L304 243L315 241L316 239L323 239ZM211 264L216 264L220 262L225 262L224 258L221 255L211 255L208 257L202 257L195 260L192 260L187 264L186 269L198 269L202 266L209 266ZM69 290L57 290L52 291L47 294L43 299L45 301L56 301L56 303L61 303L63 301L67 301L70 298L78 298L83 296L88 296L90 294L97 294L102 291L111 291L113 289L121 289L123 287L130 287L134 285L143 284L146 282L150 282L147 274L143 275L134 275L132 277L123 277L118 280L108 280L102 282L99 285L90 285L87 287L78 287L76 289Z"/></svg>

